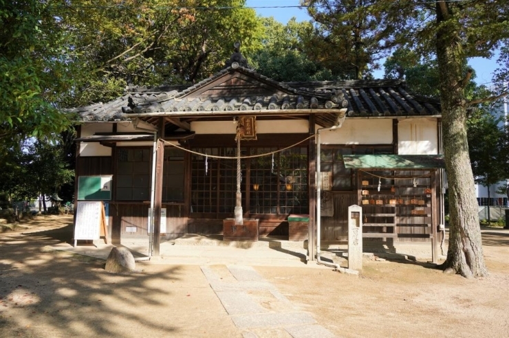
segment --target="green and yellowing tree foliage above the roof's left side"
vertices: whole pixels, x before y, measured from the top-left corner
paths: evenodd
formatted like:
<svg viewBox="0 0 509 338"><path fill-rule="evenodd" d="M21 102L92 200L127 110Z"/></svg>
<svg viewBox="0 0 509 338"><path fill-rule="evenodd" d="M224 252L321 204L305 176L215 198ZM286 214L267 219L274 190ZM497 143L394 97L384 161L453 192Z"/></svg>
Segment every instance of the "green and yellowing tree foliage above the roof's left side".
<svg viewBox="0 0 509 338"><path fill-rule="evenodd" d="M63 107L111 100L127 84L196 82L240 41L261 46L244 0L0 0L0 141L58 135ZM8 145L7 145L8 144Z"/></svg>

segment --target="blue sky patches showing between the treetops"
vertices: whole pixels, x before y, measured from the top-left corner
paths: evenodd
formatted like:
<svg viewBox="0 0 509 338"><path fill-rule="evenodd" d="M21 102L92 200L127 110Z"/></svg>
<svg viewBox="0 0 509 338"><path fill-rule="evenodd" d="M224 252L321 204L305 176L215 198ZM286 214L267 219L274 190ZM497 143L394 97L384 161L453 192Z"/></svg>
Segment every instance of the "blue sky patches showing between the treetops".
<svg viewBox="0 0 509 338"><path fill-rule="evenodd" d="M298 8L299 0L247 0L247 7L252 7L262 16L274 16L274 19L281 23L287 23L293 16L297 21L307 21L310 16L306 10ZM469 65L475 69L477 84L489 85L491 74L497 69L496 58L488 60L486 58L472 58L468 61ZM375 76L381 78L383 71L377 71Z"/></svg>

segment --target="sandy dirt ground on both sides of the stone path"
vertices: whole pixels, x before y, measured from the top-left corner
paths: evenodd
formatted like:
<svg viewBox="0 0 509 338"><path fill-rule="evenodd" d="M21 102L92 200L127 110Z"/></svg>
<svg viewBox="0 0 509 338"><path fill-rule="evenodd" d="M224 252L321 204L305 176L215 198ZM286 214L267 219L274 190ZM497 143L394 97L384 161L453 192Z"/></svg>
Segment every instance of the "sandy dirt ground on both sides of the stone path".
<svg viewBox="0 0 509 338"><path fill-rule="evenodd" d="M198 265L114 275L102 260L49 249L69 240L72 216L22 225L0 234L0 337L243 337ZM483 229L483 243L490 275L473 280L409 260L365 260L358 277L254 269L338 337L508 337L509 230Z"/></svg>

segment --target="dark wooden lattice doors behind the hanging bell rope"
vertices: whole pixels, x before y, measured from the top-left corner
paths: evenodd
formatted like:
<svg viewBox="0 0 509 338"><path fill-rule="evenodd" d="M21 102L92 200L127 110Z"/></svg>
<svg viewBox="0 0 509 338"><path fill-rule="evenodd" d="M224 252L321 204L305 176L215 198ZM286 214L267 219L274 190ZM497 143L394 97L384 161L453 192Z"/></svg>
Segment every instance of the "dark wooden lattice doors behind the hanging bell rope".
<svg viewBox="0 0 509 338"><path fill-rule="evenodd" d="M197 153L235 156L236 148L195 148ZM277 148L246 147L242 155L270 153ZM248 170L247 170L248 169ZM250 186L246 187L250 175ZM307 148L243 159L241 193L244 212L251 214L307 214ZM237 159L192 157L191 212L233 214L237 191ZM249 206L246 210L246 194Z"/></svg>

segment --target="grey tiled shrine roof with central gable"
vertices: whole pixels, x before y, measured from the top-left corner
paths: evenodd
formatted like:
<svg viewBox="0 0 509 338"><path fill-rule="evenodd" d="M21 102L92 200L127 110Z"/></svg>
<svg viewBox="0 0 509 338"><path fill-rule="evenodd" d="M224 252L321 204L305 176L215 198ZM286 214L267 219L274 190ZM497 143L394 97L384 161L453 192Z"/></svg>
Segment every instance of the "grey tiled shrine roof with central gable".
<svg viewBox="0 0 509 338"><path fill-rule="evenodd" d="M242 76L244 82L221 82L235 76ZM129 87L122 97L111 102L68 111L78 113L83 122L130 120L135 116L144 120L155 116L185 120L211 114L314 113L318 124L330 126L336 120L334 112L341 108L347 108L348 117L440 115L438 100L412 95L400 80L277 82L239 65L191 87Z"/></svg>

